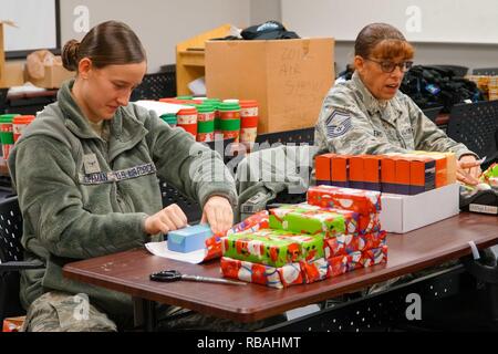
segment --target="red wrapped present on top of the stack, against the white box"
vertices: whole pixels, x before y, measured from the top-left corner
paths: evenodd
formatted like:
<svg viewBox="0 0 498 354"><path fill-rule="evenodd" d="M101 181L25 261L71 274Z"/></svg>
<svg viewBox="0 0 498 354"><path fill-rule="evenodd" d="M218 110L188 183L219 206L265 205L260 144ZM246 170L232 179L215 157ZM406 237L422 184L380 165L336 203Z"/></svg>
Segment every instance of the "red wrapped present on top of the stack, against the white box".
<svg viewBox="0 0 498 354"><path fill-rule="evenodd" d="M370 215L381 210L381 192L333 186L317 186L308 189L308 204L322 208L335 208Z"/></svg>

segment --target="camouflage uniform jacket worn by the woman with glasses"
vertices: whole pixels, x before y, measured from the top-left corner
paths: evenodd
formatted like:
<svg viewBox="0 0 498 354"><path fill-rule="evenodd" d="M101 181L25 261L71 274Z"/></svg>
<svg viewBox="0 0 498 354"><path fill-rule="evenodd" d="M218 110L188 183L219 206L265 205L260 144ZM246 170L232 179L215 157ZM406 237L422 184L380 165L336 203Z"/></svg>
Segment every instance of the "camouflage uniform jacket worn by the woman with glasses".
<svg viewBox="0 0 498 354"><path fill-rule="evenodd" d="M446 136L405 94L387 102L376 100L357 73L333 86L325 97L315 127L320 154L453 152L460 158L469 152Z"/></svg>

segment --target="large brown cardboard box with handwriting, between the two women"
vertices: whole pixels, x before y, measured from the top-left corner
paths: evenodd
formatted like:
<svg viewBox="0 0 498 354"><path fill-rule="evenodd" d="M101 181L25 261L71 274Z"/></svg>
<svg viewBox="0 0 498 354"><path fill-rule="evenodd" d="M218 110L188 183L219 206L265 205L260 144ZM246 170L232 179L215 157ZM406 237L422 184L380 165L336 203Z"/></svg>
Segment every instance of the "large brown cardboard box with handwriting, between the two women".
<svg viewBox="0 0 498 354"><path fill-rule="evenodd" d="M257 100L258 133L314 126L334 80L332 38L206 42L209 97Z"/></svg>

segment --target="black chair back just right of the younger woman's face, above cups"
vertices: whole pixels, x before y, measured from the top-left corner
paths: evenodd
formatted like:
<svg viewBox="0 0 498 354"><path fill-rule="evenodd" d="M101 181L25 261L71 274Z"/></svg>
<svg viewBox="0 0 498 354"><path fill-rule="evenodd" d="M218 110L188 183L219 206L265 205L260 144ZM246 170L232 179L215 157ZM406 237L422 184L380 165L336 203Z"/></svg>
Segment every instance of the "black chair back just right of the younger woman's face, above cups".
<svg viewBox="0 0 498 354"><path fill-rule="evenodd" d="M176 96L176 66L167 65L165 67L165 72L146 74L142 84L133 91L131 101Z"/></svg>

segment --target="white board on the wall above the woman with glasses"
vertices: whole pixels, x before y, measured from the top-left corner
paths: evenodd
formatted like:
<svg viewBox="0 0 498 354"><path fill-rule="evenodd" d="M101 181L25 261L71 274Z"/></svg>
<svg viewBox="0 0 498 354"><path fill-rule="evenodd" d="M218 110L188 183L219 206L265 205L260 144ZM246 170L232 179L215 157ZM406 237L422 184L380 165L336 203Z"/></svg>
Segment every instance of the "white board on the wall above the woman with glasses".
<svg viewBox="0 0 498 354"><path fill-rule="evenodd" d="M413 42L498 44L496 0L281 1L282 22L301 37L354 41L364 25L387 22Z"/></svg>

